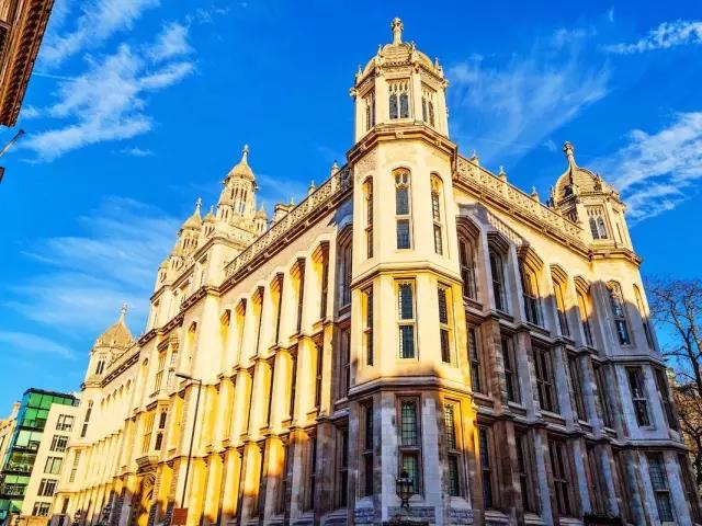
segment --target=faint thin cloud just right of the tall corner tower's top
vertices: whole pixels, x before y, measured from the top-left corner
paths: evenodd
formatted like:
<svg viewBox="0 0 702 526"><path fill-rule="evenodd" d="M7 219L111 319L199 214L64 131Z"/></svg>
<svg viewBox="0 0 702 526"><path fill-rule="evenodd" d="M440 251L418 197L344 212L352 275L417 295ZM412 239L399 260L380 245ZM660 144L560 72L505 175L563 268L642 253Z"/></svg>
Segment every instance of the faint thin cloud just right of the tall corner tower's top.
<svg viewBox="0 0 702 526"><path fill-rule="evenodd" d="M453 134L487 162L516 161L608 93L610 71L584 49L591 28L559 30L528 56L488 65L472 57L448 70Z"/></svg>

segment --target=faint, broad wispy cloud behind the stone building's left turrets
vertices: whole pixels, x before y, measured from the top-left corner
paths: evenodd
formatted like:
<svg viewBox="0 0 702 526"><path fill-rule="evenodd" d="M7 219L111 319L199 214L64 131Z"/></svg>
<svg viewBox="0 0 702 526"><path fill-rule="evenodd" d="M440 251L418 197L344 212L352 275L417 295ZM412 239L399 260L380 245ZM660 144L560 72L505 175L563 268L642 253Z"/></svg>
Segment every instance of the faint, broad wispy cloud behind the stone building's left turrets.
<svg viewBox="0 0 702 526"><path fill-rule="evenodd" d="M139 332L158 265L180 221L140 202L111 197L80 218L81 233L35 243L26 256L41 270L3 294L4 306L56 331L98 334L123 301Z"/></svg>

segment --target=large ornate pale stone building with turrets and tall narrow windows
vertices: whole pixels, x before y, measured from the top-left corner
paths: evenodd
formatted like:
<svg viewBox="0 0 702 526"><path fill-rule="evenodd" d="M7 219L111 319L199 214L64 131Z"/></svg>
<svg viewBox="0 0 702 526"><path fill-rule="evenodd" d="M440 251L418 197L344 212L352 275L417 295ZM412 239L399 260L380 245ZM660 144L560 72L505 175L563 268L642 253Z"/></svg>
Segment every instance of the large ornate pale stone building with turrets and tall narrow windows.
<svg viewBox="0 0 702 526"><path fill-rule="evenodd" d="M567 142L547 203L461 156L392 30L347 163L269 224L245 148L98 340L56 521L380 524L403 470L430 524L699 521L624 203Z"/></svg>

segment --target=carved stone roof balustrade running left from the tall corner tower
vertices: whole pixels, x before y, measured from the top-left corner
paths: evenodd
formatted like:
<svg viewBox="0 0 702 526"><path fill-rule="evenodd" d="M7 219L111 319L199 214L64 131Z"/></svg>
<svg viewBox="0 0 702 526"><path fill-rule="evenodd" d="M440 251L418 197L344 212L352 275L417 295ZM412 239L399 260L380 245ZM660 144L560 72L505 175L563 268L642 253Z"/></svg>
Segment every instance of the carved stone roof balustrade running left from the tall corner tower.
<svg viewBox="0 0 702 526"><path fill-rule="evenodd" d="M225 267L225 276L233 276L239 268L251 262L257 255L265 251L275 240L284 236L291 228L303 222L313 211L321 208L337 195L346 192L353 185L351 170L343 168L329 178L305 201L293 208L285 217L278 221L270 230L258 238L253 243L237 255Z"/></svg>

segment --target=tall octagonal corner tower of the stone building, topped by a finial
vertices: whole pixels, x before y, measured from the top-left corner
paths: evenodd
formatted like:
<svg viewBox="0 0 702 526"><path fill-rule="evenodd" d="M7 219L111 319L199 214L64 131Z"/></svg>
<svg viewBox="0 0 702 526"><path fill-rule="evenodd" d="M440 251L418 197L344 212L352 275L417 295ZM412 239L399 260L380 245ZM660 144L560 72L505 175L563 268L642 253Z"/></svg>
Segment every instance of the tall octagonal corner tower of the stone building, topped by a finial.
<svg viewBox="0 0 702 526"><path fill-rule="evenodd" d="M350 441L366 448L352 455L363 458L353 521L390 521L400 505L395 482L407 471L410 515L450 524L473 513L464 466L475 421L453 198L457 152L439 61L403 42L399 19L390 27L392 43L351 90L350 433L364 431Z"/></svg>

